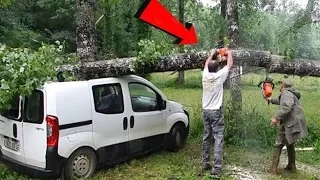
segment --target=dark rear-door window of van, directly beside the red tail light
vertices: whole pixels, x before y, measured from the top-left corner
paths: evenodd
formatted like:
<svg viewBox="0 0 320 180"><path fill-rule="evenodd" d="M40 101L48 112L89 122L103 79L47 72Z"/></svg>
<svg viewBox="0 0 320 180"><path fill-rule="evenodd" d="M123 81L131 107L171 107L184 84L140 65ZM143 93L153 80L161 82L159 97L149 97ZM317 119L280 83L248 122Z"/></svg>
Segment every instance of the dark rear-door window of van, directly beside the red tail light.
<svg viewBox="0 0 320 180"><path fill-rule="evenodd" d="M25 98L24 122L41 124L43 114L43 93L35 90L29 97Z"/></svg>

